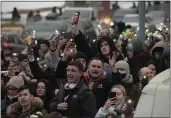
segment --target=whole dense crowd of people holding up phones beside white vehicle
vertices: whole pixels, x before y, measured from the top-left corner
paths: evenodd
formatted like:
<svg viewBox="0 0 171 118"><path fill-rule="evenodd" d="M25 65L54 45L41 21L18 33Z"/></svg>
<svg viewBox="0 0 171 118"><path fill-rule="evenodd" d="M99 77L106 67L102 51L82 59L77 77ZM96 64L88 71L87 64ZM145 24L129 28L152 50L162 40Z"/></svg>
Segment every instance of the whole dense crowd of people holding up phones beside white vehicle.
<svg viewBox="0 0 171 118"><path fill-rule="evenodd" d="M90 44L77 24L71 32L53 34L40 48L32 39L21 53L2 49L1 115L132 118L142 89L170 68L168 37L144 48L108 33Z"/></svg>

